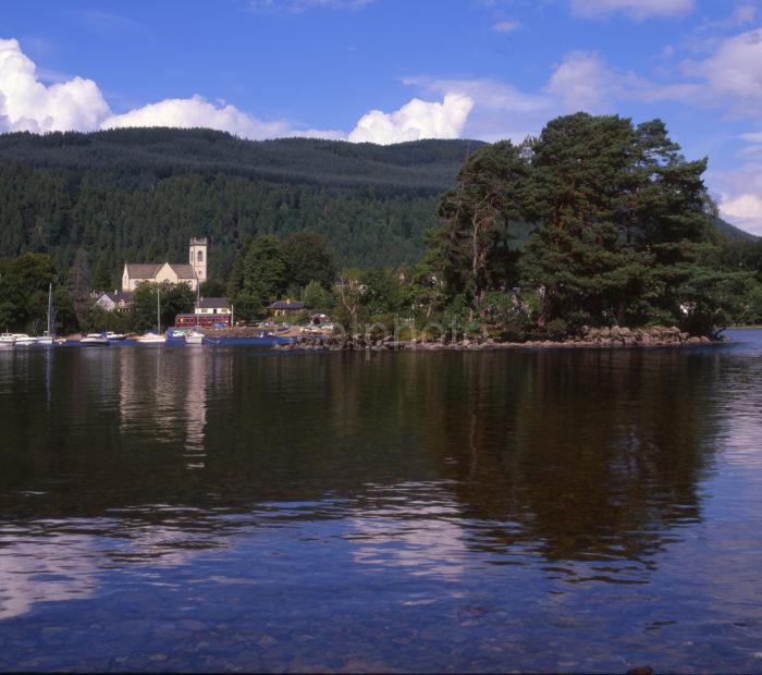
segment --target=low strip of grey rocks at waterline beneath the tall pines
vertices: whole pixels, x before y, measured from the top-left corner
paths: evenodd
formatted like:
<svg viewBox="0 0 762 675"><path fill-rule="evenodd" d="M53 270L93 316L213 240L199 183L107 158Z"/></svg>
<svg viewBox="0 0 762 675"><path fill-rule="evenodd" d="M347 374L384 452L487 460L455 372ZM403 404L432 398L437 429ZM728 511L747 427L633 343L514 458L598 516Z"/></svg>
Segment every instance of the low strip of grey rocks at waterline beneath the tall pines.
<svg viewBox="0 0 762 675"><path fill-rule="evenodd" d="M648 347L696 347L725 344L726 340L696 338L676 327L651 327L643 329L601 328L590 329L583 335L563 341L499 342L490 338L442 340L396 340L390 335L378 340L364 335L309 335L295 342L274 346L282 352L487 352L497 349L558 349L558 348L648 348Z"/></svg>

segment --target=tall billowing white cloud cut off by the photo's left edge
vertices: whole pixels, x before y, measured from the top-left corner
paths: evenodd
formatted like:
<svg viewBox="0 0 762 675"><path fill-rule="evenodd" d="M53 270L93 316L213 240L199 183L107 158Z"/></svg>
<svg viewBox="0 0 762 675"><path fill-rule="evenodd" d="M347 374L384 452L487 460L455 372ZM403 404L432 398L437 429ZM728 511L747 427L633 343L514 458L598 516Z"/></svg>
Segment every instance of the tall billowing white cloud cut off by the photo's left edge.
<svg viewBox="0 0 762 675"><path fill-rule="evenodd" d="M17 40L0 39L0 131L93 131L109 106L91 79L46 86Z"/></svg>

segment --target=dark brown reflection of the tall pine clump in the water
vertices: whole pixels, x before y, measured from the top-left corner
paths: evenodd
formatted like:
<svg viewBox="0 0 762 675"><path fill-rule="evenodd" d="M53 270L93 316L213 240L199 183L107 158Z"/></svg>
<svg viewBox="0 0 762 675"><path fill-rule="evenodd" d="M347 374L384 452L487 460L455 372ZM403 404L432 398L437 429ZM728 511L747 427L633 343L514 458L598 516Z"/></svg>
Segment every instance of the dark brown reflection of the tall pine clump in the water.
<svg viewBox="0 0 762 675"><path fill-rule="evenodd" d="M430 443L465 514L480 523L478 545L524 542L550 562L648 565L675 527L696 523L717 383L711 364L690 369L684 358L556 353L507 369L464 365L463 413L455 418L442 401Z"/></svg>

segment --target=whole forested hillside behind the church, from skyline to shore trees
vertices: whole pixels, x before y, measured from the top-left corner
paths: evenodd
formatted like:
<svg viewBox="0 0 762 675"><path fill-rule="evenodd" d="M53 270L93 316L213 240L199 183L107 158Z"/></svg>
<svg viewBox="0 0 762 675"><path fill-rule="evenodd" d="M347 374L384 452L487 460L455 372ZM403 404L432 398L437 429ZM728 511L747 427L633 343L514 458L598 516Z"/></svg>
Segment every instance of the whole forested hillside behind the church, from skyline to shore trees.
<svg viewBox="0 0 762 675"><path fill-rule="evenodd" d="M45 251L66 269L84 250L90 270L115 275L124 260L183 260L188 237L208 236L210 272L223 277L246 238L309 229L347 265L411 262L439 195L480 145L248 142L165 128L7 134L0 257Z"/></svg>

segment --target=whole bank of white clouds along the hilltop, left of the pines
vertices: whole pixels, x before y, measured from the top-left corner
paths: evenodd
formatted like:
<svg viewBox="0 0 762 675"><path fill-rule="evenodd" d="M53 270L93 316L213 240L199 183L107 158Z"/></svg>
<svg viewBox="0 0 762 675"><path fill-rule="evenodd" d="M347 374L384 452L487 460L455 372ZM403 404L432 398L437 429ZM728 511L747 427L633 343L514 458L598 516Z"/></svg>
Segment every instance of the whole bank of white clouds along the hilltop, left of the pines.
<svg viewBox="0 0 762 675"><path fill-rule="evenodd" d="M340 2L310 0L316 5ZM364 4L359 0L345 4ZM373 110L364 115L351 134L340 130L305 130L284 120L263 121L224 102L202 96L168 98L115 114L91 79L71 77L49 86L26 57L17 40L0 39L0 133L9 131L90 132L125 126L205 127L243 138L309 136L370 143L401 143L419 138L456 138L474 101L462 94L447 94L441 102L413 99L400 110Z"/></svg>

